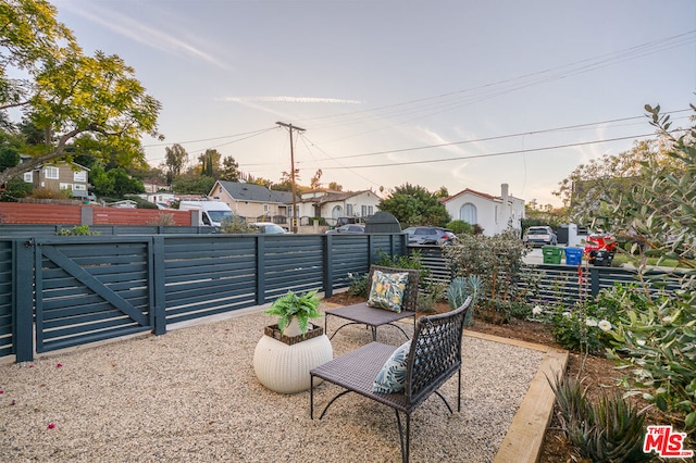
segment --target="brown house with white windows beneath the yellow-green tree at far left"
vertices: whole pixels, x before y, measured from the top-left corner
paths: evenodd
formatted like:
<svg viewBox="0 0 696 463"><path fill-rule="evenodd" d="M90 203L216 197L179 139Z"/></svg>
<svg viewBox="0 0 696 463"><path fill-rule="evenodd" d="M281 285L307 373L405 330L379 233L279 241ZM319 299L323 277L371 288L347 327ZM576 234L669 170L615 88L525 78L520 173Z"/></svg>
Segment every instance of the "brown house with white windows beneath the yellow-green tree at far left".
<svg viewBox="0 0 696 463"><path fill-rule="evenodd" d="M22 160L29 159L22 155ZM23 174L23 179L35 188L46 188L48 190L72 191L74 198L88 198L88 175L89 168L75 162L57 162L52 164L41 164L29 172Z"/></svg>

